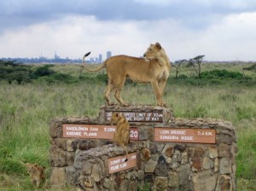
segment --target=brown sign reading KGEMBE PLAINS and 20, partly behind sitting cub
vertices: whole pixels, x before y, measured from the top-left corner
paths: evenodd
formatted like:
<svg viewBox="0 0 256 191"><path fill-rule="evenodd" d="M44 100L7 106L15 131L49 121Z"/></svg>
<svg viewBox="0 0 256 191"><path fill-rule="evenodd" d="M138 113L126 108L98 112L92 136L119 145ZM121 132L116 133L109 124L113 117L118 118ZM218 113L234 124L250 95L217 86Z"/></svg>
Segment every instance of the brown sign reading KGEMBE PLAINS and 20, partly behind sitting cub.
<svg viewBox="0 0 256 191"><path fill-rule="evenodd" d="M116 131L116 125L104 124L63 124L62 132L64 138L83 138L83 139L110 139L113 140L113 134ZM131 127L131 141L139 140L138 128Z"/></svg>

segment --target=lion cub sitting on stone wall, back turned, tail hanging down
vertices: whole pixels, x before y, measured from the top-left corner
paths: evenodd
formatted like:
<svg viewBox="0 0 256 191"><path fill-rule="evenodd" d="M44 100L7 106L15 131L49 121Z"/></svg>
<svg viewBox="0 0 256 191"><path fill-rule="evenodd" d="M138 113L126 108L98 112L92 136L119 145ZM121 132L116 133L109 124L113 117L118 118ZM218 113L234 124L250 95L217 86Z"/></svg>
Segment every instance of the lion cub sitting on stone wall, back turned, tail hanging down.
<svg viewBox="0 0 256 191"><path fill-rule="evenodd" d="M113 141L124 148L126 153L125 162L128 160L128 151L125 147L130 142L130 124L123 113L112 113L111 124L116 124L116 131L113 134Z"/></svg>

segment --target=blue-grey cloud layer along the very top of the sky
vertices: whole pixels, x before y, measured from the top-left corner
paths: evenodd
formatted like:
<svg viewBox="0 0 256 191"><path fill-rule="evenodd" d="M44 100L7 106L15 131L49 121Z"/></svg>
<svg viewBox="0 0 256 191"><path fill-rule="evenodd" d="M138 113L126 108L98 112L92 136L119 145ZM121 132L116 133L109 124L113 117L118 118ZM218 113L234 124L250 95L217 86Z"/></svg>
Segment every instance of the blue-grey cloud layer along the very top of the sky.
<svg viewBox="0 0 256 191"><path fill-rule="evenodd" d="M196 29L211 26L219 15L252 12L255 9L254 0L3 0L0 2L0 33L5 28L61 20L67 15L95 16L97 20L149 21L171 18ZM211 20L204 20L209 17Z"/></svg>

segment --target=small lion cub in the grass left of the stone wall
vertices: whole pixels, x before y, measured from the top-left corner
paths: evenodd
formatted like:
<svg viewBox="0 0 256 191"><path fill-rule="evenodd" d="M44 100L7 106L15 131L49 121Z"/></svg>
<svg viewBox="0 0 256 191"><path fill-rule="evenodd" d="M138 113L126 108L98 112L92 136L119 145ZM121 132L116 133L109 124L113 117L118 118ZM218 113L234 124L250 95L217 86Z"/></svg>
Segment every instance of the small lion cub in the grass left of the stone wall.
<svg viewBox="0 0 256 191"><path fill-rule="evenodd" d="M38 164L26 163L27 172L30 174L32 184L37 184L37 188L40 183L44 181L44 167Z"/></svg>

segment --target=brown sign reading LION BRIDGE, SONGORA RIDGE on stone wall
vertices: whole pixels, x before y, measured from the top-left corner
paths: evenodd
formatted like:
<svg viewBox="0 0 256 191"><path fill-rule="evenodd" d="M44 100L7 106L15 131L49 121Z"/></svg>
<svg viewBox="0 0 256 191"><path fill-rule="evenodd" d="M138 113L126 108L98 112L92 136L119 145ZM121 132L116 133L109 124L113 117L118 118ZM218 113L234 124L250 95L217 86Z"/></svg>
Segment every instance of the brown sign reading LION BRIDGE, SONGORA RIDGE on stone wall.
<svg viewBox="0 0 256 191"><path fill-rule="evenodd" d="M154 128L155 142L216 143L216 131L211 129Z"/></svg>

